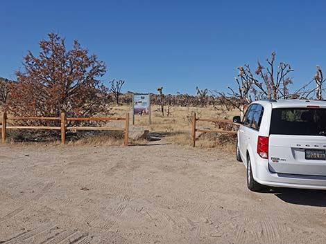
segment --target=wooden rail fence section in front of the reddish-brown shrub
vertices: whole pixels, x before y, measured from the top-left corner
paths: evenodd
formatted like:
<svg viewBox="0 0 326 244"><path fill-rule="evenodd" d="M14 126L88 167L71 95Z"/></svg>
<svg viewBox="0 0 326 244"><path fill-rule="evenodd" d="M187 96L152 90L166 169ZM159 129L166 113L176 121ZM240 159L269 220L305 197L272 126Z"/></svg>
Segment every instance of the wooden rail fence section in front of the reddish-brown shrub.
<svg viewBox="0 0 326 244"><path fill-rule="evenodd" d="M10 126L7 124L8 120L58 120L61 122L60 126ZM96 126L66 126L67 121L125 121L124 128L114 127L96 127ZM128 146L128 133L129 133L129 113L126 113L125 118L66 118L65 113L61 113L60 117L7 117L7 113L2 115L1 124L1 139L6 142L6 131L8 129L44 129L44 130L60 130L61 143L65 144L66 130L96 130L96 131L124 131L124 145Z"/></svg>

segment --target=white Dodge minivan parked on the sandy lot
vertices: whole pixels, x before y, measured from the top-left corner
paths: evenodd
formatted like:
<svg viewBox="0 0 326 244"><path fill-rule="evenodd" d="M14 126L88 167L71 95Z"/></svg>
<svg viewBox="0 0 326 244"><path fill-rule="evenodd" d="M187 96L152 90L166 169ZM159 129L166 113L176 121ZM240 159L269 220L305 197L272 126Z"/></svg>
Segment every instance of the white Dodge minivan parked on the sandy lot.
<svg viewBox="0 0 326 244"><path fill-rule="evenodd" d="M252 102L240 124L237 160L252 191L264 186L326 189L326 102Z"/></svg>

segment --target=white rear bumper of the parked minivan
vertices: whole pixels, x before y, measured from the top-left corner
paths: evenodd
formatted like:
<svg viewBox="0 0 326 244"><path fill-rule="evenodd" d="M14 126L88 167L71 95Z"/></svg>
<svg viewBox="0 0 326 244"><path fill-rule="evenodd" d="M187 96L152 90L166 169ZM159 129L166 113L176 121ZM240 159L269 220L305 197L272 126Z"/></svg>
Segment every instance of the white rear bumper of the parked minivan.
<svg viewBox="0 0 326 244"><path fill-rule="evenodd" d="M306 176L289 173L274 173L269 170L267 160L257 160L255 180L271 187L300 189L326 189L326 176Z"/></svg>

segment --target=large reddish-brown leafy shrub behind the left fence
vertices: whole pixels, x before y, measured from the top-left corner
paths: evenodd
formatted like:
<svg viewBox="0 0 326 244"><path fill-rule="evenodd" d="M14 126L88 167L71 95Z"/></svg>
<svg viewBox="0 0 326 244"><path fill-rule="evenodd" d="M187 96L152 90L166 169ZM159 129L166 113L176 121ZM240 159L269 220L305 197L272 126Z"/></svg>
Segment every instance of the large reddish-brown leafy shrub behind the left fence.
<svg viewBox="0 0 326 244"><path fill-rule="evenodd" d="M24 71L11 85L7 109L18 116L90 117L107 109L107 89L98 79L105 74L104 62L89 55L74 41L67 50L65 39L50 33L40 41L40 53L28 51Z"/></svg>

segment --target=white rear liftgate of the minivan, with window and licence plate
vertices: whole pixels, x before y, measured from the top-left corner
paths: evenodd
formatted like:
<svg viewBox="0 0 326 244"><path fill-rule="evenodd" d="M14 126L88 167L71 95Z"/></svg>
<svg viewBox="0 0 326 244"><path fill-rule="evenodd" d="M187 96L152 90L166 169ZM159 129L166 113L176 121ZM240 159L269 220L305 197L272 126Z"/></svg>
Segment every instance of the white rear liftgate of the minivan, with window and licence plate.
<svg viewBox="0 0 326 244"><path fill-rule="evenodd" d="M268 144L271 171L326 176L326 109L273 109Z"/></svg>

